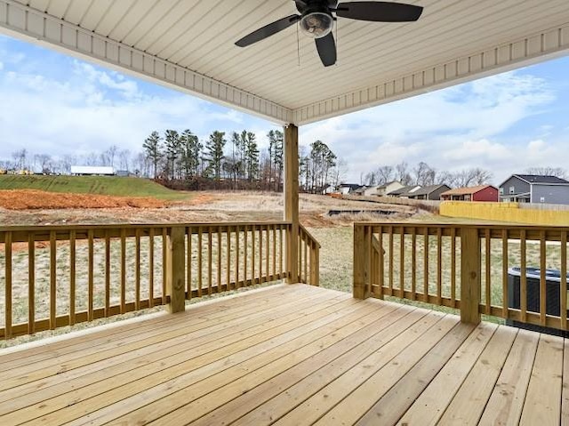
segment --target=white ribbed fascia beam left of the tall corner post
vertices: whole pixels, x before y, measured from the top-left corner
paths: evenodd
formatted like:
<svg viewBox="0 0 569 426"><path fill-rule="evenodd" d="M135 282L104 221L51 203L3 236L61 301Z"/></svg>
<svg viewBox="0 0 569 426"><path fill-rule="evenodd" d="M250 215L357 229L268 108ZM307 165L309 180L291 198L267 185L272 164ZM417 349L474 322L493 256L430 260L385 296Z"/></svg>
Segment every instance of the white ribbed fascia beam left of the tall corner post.
<svg viewBox="0 0 569 426"><path fill-rule="evenodd" d="M278 125L292 123L291 109L13 0L0 0L0 34L41 44L152 83L188 92Z"/></svg>

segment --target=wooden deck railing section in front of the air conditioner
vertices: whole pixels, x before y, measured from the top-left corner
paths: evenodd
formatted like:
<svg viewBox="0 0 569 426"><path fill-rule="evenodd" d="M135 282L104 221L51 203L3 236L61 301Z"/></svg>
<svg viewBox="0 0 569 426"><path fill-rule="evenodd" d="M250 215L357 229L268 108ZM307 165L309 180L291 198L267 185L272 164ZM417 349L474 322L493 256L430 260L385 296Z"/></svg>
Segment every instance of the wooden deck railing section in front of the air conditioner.
<svg viewBox="0 0 569 426"><path fill-rule="evenodd" d="M354 295L389 295L460 309L467 322L476 323L486 314L567 330L568 231L525 225L357 223ZM539 269L539 277L528 278L530 268ZM547 269L558 270L559 277L549 277ZM533 296L537 300L529 306Z"/></svg>

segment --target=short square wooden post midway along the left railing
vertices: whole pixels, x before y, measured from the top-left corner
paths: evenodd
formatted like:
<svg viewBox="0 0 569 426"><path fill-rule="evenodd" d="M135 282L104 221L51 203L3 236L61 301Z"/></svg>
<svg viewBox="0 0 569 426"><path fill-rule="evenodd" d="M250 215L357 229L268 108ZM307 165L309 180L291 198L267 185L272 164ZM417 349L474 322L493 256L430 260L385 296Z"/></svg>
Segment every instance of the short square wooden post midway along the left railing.
<svg viewBox="0 0 569 426"><path fill-rule="evenodd" d="M186 228L172 228L167 245L167 280L170 294L170 313L183 312L185 309L186 289Z"/></svg>

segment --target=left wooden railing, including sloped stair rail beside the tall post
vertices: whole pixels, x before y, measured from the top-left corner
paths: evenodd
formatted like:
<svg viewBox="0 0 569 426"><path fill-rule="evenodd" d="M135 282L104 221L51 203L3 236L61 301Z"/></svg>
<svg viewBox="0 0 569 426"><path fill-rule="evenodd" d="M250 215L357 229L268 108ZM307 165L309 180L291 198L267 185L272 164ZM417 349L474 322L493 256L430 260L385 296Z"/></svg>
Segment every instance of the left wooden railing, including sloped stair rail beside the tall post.
<svg viewBox="0 0 569 426"><path fill-rule="evenodd" d="M0 228L0 338L268 283L290 272L291 224L190 223ZM299 241L302 282L318 248ZM307 274L309 270L309 274Z"/></svg>

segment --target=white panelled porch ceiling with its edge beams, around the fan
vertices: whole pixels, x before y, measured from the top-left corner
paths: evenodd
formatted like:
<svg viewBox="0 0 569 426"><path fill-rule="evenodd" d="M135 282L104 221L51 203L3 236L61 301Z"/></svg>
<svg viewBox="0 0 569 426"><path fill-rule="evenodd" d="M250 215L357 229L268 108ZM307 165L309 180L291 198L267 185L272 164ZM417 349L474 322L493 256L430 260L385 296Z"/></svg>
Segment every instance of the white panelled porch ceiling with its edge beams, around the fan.
<svg viewBox="0 0 569 426"><path fill-rule="evenodd" d="M338 63L291 27L234 42L296 12L292 0L0 0L0 32L303 125L564 54L568 0L407 0L414 23L338 21ZM299 58L300 55L300 65Z"/></svg>

